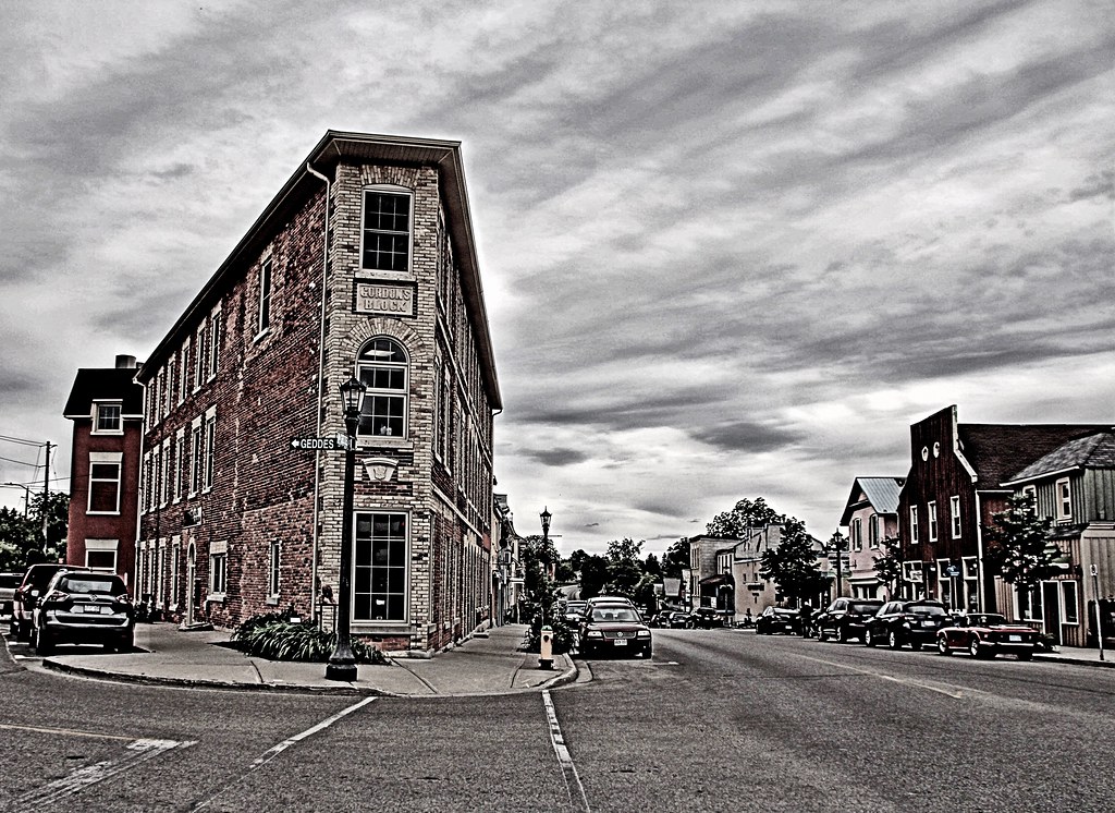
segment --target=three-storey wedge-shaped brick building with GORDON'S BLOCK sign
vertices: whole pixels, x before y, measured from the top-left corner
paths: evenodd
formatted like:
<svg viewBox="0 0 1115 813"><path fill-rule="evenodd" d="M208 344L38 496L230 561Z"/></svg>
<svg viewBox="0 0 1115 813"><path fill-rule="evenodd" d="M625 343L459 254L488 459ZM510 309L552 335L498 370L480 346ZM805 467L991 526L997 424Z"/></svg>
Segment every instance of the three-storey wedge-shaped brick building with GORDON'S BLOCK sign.
<svg viewBox="0 0 1115 813"><path fill-rule="evenodd" d="M339 385L367 385L352 538ZM293 610L428 654L489 613L502 408L459 144L328 132L143 365L137 593L186 625ZM309 444L312 445L312 444Z"/></svg>

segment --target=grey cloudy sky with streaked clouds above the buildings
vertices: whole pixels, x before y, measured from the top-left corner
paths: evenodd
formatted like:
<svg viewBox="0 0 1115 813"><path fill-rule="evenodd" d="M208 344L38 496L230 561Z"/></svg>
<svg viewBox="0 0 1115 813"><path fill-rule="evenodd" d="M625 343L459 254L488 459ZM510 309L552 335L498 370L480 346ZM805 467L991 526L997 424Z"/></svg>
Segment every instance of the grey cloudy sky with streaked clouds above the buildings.
<svg viewBox="0 0 1115 813"><path fill-rule="evenodd" d="M67 488L77 368L145 358L327 128L452 138L520 532L764 496L826 538L950 404L1115 422L1113 54L1104 0L0 4L0 437Z"/></svg>

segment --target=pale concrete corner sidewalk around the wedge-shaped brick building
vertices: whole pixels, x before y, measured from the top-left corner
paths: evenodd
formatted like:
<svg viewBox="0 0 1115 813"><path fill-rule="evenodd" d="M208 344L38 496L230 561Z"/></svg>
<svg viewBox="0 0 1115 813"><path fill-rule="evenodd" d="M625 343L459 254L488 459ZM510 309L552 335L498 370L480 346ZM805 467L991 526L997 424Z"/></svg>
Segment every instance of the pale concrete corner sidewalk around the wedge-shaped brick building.
<svg viewBox="0 0 1115 813"><path fill-rule="evenodd" d="M56 671L132 683L197 688L263 689L397 697L503 695L539 691L575 680L568 655L553 669L521 651L525 625L494 627L434 658L398 658L388 666L360 664L357 680L326 679L324 664L248 657L227 646L230 633L181 630L174 623L136 625L136 650L127 654L62 647L42 660Z"/></svg>

